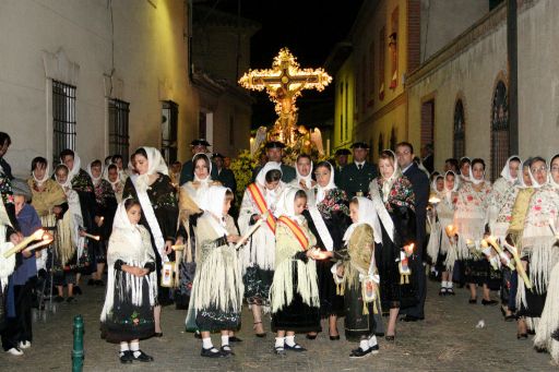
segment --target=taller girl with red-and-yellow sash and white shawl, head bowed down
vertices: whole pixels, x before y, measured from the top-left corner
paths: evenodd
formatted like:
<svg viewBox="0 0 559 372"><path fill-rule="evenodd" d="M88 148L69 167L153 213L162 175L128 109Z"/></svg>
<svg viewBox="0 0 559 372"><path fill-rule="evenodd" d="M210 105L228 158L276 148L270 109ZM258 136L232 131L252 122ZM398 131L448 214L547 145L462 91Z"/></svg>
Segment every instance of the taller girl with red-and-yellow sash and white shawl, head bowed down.
<svg viewBox="0 0 559 372"><path fill-rule="evenodd" d="M255 182L249 184L242 196L239 212L239 229L247 233L264 214L266 221L251 236L248 244L240 252L245 298L252 310L254 332L264 337L262 310L270 311L270 286L274 277L275 263L275 217L277 197L285 188L282 182L280 164L269 161L260 170Z"/></svg>

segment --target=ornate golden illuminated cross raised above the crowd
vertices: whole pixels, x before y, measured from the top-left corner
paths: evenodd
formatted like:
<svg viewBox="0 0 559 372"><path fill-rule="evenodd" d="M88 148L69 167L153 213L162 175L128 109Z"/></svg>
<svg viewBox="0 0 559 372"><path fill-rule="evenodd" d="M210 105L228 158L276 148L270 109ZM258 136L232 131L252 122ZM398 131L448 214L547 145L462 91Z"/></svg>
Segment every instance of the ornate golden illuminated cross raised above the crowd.
<svg viewBox="0 0 559 372"><path fill-rule="evenodd" d="M247 89L266 89L270 99L275 104L280 117L297 111L295 100L302 89L322 92L332 77L323 69L299 69L297 59L287 48L280 50L274 58L272 69L249 70L239 80Z"/></svg>

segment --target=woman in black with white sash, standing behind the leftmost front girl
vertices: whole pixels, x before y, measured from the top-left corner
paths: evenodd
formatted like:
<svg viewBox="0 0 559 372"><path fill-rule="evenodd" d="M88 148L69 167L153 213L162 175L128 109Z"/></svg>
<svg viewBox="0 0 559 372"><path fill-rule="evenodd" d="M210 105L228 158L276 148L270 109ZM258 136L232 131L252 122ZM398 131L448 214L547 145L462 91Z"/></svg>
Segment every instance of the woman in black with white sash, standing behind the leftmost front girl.
<svg viewBox="0 0 559 372"><path fill-rule="evenodd" d="M151 233L155 252L157 280L160 284L163 262L169 261L171 245L182 244L183 237L177 237L178 207L175 188L167 176L167 166L158 149L140 147L134 152L134 166L138 171L127 179L123 199L132 196L142 205L142 224ZM154 308L155 336L162 337L160 307L170 303L167 288L157 289Z"/></svg>

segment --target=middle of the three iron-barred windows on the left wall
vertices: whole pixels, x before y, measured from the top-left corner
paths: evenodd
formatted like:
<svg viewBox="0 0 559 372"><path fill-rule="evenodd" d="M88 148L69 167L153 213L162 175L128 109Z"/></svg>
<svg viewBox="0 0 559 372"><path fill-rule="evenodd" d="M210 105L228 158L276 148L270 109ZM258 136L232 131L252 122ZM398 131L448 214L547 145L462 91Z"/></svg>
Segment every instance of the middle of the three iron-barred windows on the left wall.
<svg viewBox="0 0 559 372"><path fill-rule="evenodd" d="M129 112L129 103L120 99L109 99L109 153L110 155L121 155L124 159L128 159L130 147Z"/></svg>

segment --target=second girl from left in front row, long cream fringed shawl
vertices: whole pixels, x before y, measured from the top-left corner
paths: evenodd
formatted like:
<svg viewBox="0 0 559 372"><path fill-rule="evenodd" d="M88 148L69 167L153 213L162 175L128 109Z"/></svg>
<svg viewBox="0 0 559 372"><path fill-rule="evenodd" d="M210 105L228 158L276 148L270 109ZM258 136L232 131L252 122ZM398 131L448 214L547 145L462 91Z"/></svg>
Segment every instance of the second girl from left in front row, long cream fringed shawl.
<svg viewBox="0 0 559 372"><path fill-rule="evenodd" d="M240 326L242 305L242 276L233 243L240 237L235 221L228 215L233 192L221 185L207 190L206 212L198 219L198 267L192 285L187 316L187 328L202 334L202 357L218 358L234 355L229 333ZM211 339L212 332L221 332L222 347Z"/></svg>

